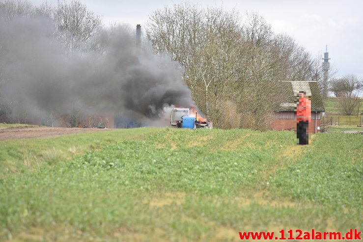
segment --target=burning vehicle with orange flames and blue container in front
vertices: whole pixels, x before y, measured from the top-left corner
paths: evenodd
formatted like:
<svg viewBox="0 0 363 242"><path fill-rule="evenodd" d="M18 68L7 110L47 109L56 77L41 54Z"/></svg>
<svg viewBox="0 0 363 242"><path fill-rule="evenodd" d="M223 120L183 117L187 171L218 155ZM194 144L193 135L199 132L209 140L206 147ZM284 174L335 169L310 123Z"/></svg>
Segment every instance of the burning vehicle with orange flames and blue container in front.
<svg viewBox="0 0 363 242"><path fill-rule="evenodd" d="M198 115L195 108L173 108L170 114L170 125L171 127L186 129L213 128L213 123Z"/></svg>

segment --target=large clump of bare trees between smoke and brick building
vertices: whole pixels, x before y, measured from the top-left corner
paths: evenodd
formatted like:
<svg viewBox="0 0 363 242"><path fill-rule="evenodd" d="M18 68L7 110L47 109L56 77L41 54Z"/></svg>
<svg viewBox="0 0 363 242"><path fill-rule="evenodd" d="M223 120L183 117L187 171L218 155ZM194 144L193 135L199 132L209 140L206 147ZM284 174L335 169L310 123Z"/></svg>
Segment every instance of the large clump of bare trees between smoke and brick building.
<svg viewBox="0 0 363 242"><path fill-rule="evenodd" d="M147 37L185 68L184 80L199 109L219 128L271 128L278 108L276 81L319 78L316 61L264 19L189 3L157 10ZM235 122L231 116L235 115Z"/></svg>

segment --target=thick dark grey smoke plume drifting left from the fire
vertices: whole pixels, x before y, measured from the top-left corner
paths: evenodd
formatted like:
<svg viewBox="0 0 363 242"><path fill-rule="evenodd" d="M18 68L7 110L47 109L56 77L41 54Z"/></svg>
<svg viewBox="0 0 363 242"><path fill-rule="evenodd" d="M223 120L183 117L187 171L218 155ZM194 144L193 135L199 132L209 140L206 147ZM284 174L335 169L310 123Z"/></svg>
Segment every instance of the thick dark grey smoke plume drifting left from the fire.
<svg viewBox="0 0 363 242"><path fill-rule="evenodd" d="M13 113L112 113L147 125L170 105L193 105L180 64L146 44L137 48L134 29L103 29L103 52L72 54L54 31L46 18L0 22L0 97Z"/></svg>

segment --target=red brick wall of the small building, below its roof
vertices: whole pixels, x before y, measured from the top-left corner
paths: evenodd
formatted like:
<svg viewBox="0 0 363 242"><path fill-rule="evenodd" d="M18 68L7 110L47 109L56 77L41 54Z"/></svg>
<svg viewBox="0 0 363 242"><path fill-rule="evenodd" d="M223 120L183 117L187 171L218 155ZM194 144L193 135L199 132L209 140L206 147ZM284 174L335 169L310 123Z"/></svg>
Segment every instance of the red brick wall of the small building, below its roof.
<svg viewBox="0 0 363 242"><path fill-rule="evenodd" d="M292 116L294 115L294 119ZM315 112L311 112L311 123L309 123L309 134L316 134L319 130L315 130L315 120L316 127L320 127L320 112L317 112L317 119L315 119ZM272 122L273 130L288 130L293 129L296 131L296 113L291 112L282 112L275 115L275 117L290 117L290 118L275 118Z"/></svg>

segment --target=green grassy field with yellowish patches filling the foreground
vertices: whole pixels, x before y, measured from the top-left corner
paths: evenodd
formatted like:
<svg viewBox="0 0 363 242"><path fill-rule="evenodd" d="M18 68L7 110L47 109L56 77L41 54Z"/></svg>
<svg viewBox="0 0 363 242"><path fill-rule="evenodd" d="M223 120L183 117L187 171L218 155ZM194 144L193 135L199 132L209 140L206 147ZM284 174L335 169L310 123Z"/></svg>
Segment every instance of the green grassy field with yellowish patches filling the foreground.
<svg viewBox="0 0 363 242"><path fill-rule="evenodd" d="M362 231L361 134L140 128L0 142L0 241Z"/></svg>

